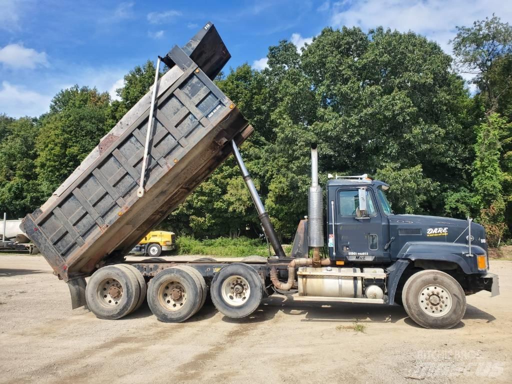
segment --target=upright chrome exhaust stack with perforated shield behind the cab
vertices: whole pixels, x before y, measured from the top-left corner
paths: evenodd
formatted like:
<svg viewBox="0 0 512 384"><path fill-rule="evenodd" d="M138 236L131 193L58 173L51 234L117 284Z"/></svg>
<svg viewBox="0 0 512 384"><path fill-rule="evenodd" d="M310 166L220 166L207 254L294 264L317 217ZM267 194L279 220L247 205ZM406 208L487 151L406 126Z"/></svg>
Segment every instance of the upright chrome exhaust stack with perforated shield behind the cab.
<svg viewBox="0 0 512 384"><path fill-rule="evenodd" d="M320 248L324 246L324 192L318 186L318 151L311 144L311 186L308 194L308 242L313 248L313 267L320 267Z"/></svg>

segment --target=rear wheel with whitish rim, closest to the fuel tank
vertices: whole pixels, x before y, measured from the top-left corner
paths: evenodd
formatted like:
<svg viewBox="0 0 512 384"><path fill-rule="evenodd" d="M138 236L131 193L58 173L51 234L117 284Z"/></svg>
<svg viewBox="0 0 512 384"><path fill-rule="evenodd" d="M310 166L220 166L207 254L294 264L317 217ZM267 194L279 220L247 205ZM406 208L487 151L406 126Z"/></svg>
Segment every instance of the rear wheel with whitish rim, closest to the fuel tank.
<svg viewBox="0 0 512 384"><path fill-rule="evenodd" d="M219 312L232 318L250 315L263 299L264 287L258 272L243 263L225 266L211 282L211 301Z"/></svg>

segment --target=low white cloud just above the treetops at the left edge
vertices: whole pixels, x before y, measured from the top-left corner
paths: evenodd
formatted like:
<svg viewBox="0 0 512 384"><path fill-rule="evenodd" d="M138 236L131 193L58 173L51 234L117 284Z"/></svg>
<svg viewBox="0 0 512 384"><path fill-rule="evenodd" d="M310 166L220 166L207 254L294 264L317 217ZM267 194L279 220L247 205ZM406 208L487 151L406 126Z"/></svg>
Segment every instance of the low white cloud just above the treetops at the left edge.
<svg viewBox="0 0 512 384"><path fill-rule="evenodd" d="M39 116L48 112L53 96L27 90L23 86L15 86L2 81L0 88L0 113L12 117Z"/></svg>

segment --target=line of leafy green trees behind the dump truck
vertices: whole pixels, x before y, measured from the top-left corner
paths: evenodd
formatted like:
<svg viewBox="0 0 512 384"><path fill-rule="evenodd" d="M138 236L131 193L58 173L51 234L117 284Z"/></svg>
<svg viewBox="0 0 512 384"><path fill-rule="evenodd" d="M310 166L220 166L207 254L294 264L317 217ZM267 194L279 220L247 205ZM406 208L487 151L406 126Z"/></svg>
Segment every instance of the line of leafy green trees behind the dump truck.
<svg viewBox="0 0 512 384"><path fill-rule="evenodd" d="M269 47L216 82L254 127L243 157L279 235L307 214L309 144L327 173L368 173L391 185L397 213L474 217L498 245L512 228L512 27L494 16L457 27L453 56L414 32L325 28L300 52ZM462 73L474 76L474 90ZM124 76L120 100L74 86L37 118L0 115L0 211L44 202L153 83L147 61ZM262 231L232 158L162 223L200 238Z"/></svg>

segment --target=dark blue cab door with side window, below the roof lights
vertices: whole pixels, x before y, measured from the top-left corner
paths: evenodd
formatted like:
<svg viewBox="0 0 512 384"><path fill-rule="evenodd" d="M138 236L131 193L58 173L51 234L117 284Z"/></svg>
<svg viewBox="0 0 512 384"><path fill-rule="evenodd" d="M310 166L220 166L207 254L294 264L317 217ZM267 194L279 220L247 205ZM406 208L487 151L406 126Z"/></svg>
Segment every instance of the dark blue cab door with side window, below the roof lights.
<svg viewBox="0 0 512 384"><path fill-rule="evenodd" d="M329 217L334 218L334 226L331 222L329 233L334 229L335 237L331 254L335 251L335 260L388 261L388 252L383 250L388 240L384 238L382 216L370 187L366 187L365 193L367 215L357 217L360 188L340 187L331 195Z"/></svg>

